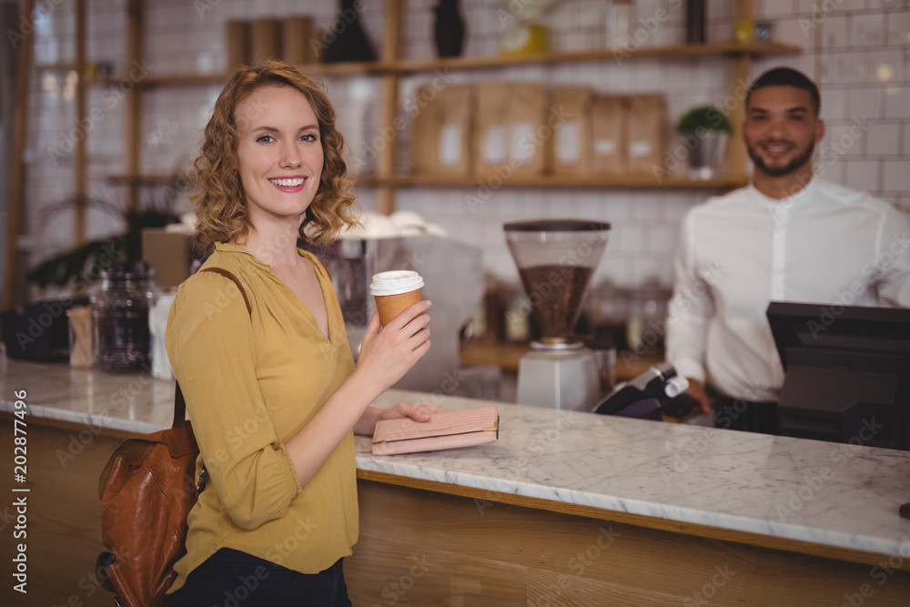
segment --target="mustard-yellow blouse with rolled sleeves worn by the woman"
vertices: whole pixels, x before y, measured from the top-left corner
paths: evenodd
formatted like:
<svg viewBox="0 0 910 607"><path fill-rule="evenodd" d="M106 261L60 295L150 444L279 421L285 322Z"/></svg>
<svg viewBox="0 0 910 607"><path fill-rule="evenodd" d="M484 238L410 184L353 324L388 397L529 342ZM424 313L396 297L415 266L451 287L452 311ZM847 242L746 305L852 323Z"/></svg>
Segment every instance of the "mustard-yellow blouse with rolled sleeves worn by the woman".
<svg viewBox="0 0 910 607"><path fill-rule="evenodd" d="M243 285L199 272L177 289L167 355L187 400L209 481L189 513L187 554L174 592L218 549L245 551L316 573L351 553L358 537L353 433L307 486L284 443L354 370L328 274L316 267L329 339L297 293L245 248L217 243L203 268L225 268ZM251 318L250 318L251 317Z"/></svg>

